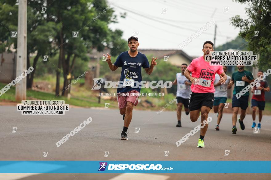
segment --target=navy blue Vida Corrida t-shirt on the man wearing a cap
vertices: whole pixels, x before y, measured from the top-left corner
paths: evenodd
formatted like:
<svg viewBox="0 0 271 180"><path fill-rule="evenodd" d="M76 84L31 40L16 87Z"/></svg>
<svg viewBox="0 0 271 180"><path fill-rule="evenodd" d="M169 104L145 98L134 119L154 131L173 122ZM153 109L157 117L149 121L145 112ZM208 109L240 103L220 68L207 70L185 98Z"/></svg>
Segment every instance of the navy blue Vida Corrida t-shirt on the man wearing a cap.
<svg viewBox="0 0 271 180"><path fill-rule="evenodd" d="M136 57L131 57L128 51L120 53L114 65L117 67L122 67L119 80L122 82L123 79L134 79L135 81L141 82L141 67L148 68L150 66L149 61L144 54L138 52ZM136 86L136 83L134 84L134 86ZM139 87L132 88L131 86L125 86L123 88L118 88L117 93L126 93L131 90L137 90L138 92L140 92Z"/></svg>

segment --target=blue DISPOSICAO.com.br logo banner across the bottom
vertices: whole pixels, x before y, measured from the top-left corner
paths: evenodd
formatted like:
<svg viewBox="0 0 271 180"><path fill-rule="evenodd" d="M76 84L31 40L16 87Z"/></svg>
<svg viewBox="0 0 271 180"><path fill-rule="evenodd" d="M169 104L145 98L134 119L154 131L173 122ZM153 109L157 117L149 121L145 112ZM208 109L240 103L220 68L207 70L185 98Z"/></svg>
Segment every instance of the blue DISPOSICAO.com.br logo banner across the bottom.
<svg viewBox="0 0 271 180"><path fill-rule="evenodd" d="M271 161L0 161L0 173L271 173Z"/></svg>

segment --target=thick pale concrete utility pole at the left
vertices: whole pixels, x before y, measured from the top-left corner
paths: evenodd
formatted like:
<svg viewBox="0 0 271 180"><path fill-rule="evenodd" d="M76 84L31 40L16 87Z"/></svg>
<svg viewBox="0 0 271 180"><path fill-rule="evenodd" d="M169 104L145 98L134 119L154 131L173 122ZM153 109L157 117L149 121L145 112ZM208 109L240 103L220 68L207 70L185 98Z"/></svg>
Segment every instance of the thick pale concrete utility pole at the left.
<svg viewBox="0 0 271 180"><path fill-rule="evenodd" d="M26 2L26 0L19 0L18 6L16 77L26 70ZM16 101L26 100L26 78L16 84L15 99Z"/></svg>

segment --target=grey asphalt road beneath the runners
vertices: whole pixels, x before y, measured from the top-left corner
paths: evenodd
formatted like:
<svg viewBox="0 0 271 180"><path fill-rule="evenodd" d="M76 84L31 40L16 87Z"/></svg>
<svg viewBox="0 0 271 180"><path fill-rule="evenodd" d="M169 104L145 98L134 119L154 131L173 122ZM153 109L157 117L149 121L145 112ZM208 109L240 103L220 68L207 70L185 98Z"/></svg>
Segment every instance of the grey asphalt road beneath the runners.
<svg viewBox="0 0 271 180"><path fill-rule="evenodd" d="M220 131L215 131L216 114L210 113L204 138L205 148L197 148L200 132L179 147L176 141L199 125L182 113L182 126L176 127L176 112L133 111L128 139L120 140L123 119L118 109L71 108L65 115L21 115L16 106L0 106L1 160L269 160L271 155L271 116L263 116L260 133L253 133L252 117L245 118L245 130L237 124L231 133L231 114L224 114ZM93 121L56 146L67 133L91 117ZM257 117L258 118L258 117ZM17 132L12 133L12 128ZM136 128L140 128L135 133ZM229 155L225 156L225 150ZM42 157L48 151L47 157ZM104 157L104 151L109 151ZM169 155L164 157L164 151ZM199 167L200 169L212 167ZM238 168L238 167L236 167ZM270 179L270 174L0 174L0 179Z"/></svg>

